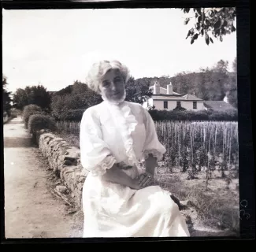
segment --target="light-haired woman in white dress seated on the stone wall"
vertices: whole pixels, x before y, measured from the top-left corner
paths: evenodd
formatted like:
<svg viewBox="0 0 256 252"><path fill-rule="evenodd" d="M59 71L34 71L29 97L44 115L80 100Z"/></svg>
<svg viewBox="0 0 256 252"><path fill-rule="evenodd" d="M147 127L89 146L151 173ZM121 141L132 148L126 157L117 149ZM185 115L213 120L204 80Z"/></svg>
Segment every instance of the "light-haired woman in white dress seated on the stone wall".
<svg viewBox="0 0 256 252"><path fill-rule="evenodd" d="M165 147L147 110L124 101L128 78L119 61L95 63L87 76L103 102L88 108L80 123L81 164L90 170L83 184L83 237L189 236L170 194L153 185Z"/></svg>

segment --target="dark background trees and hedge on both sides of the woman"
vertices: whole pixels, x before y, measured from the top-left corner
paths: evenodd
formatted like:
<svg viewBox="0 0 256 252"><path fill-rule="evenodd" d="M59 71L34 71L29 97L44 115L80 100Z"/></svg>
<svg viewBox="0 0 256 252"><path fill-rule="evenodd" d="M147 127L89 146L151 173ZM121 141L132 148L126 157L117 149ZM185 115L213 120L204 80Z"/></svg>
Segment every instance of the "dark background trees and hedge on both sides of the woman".
<svg viewBox="0 0 256 252"><path fill-rule="evenodd" d="M198 98L210 101L223 100L224 96L228 96L228 102L236 108L236 67L234 72L228 72L228 62L218 61L211 69L200 69L200 72L180 72L173 77L161 76L161 77L144 77L135 79L131 77L126 84L126 101L138 102L143 104L153 94L149 87L154 84L154 80L158 80L161 87L166 87L170 82L173 84L173 91L180 93L180 95L194 94ZM56 92L46 91L46 88L42 85L19 88L13 95L13 104L17 109L23 109L28 104L34 104L40 106L46 113L50 113L57 120L78 120L84 109L95 106L99 102L102 102L101 95L91 91L85 83L76 80L72 85L61 89ZM154 112L157 113L157 112ZM161 118L197 118L202 120L210 120L209 115L202 113L197 116L191 115L190 112L164 114L163 112L158 115L152 115L156 120ZM232 112L233 113L233 112ZM160 116L161 114L161 116ZM230 113L229 113L230 114ZM213 116L212 116L213 117ZM224 117L224 116L223 116ZM219 117L213 117L220 119ZM211 119L213 119L211 118ZM228 118L228 117L227 117ZM232 114L230 118L236 118L235 114ZM185 120L182 119L182 120ZM200 120L198 118L198 120Z"/></svg>

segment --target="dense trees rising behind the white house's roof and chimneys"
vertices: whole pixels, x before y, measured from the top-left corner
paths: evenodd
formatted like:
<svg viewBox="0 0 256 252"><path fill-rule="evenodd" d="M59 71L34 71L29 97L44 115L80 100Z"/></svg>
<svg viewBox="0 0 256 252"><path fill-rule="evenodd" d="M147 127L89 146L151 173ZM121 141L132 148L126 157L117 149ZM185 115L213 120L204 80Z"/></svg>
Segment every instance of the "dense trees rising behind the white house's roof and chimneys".
<svg viewBox="0 0 256 252"><path fill-rule="evenodd" d="M233 62L236 65L236 58ZM236 72L228 72L228 61L220 60L212 68L199 69L199 72L179 72L175 76L161 76L154 78L143 78L150 85L158 80L161 87L170 82L173 84L173 91L180 95L193 94L205 101L221 101L225 95L228 102L237 108L237 83Z"/></svg>

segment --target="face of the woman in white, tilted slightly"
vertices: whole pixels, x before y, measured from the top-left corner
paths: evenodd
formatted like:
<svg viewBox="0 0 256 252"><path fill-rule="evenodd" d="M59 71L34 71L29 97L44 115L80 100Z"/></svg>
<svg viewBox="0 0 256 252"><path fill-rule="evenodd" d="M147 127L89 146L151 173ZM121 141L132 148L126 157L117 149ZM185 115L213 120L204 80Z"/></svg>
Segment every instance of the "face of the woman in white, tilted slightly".
<svg viewBox="0 0 256 252"><path fill-rule="evenodd" d="M119 70L110 69L106 72L99 85L102 96L109 101L117 102L124 96L124 79Z"/></svg>

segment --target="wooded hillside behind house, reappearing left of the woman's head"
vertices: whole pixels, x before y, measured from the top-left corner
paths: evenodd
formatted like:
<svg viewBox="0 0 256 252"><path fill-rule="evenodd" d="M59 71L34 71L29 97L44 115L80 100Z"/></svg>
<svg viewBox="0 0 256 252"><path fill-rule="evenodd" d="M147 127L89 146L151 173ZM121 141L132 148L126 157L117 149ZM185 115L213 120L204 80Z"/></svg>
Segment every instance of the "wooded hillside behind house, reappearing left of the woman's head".
<svg viewBox="0 0 256 252"><path fill-rule="evenodd" d="M207 70L205 72L182 72L176 76L161 77L143 77L136 79L136 83L150 83L154 85L154 80L158 80L161 87L165 87L171 82L173 91L180 95L193 94L205 101L222 101L227 95L232 106L237 106L237 84L235 72L213 72ZM54 92L53 95L75 95L88 92L88 87L84 83L76 81Z"/></svg>

